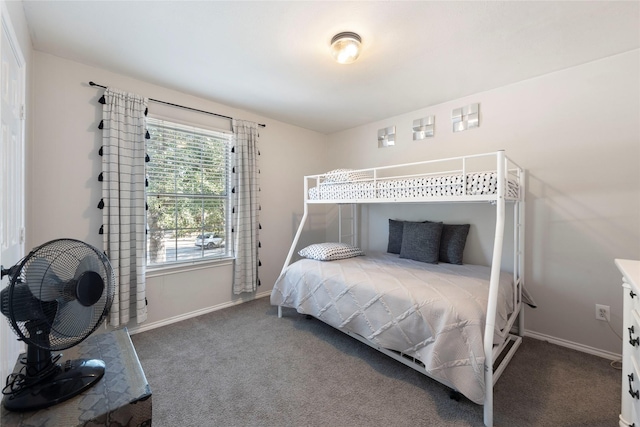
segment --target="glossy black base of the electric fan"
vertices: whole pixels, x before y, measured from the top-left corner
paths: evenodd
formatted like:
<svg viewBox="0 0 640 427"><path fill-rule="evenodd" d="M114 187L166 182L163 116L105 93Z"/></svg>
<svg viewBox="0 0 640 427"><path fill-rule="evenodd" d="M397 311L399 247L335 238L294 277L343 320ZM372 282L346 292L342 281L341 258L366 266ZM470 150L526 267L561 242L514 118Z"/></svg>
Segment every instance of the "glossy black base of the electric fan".
<svg viewBox="0 0 640 427"><path fill-rule="evenodd" d="M50 377L4 396L2 404L7 410L15 412L47 408L92 387L102 378L104 371L105 364L102 360L69 360Z"/></svg>

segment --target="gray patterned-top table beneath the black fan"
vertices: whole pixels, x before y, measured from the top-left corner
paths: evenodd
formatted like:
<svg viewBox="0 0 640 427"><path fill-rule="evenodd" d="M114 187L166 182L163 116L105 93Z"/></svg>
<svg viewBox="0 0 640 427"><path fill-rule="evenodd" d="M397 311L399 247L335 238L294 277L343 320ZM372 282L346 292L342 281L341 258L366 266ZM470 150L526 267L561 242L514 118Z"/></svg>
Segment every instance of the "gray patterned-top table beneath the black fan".
<svg viewBox="0 0 640 427"><path fill-rule="evenodd" d="M2 407L2 427L151 426L151 388L127 329L96 333L62 353L63 362L103 360L104 376L78 396L49 408L11 412Z"/></svg>

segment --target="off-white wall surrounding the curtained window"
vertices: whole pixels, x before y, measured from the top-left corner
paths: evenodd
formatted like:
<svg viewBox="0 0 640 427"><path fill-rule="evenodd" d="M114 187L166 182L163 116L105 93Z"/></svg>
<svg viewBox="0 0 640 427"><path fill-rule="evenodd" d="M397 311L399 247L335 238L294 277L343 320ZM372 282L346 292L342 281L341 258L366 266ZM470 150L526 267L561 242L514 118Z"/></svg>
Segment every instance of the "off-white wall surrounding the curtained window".
<svg viewBox="0 0 640 427"><path fill-rule="evenodd" d="M100 247L103 89L89 81L218 114L265 123L260 129L261 219L258 294L269 293L302 212L302 176L324 169L326 136L41 52L33 55L33 138L29 146L27 247L72 237ZM212 84L224 82L212 81ZM189 113L150 103L150 113ZM190 116L190 121L219 120ZM158 325L240 301L231 293L232 264L148 272L148 321ZM242 296L242 299L253 295Z"/></svg>

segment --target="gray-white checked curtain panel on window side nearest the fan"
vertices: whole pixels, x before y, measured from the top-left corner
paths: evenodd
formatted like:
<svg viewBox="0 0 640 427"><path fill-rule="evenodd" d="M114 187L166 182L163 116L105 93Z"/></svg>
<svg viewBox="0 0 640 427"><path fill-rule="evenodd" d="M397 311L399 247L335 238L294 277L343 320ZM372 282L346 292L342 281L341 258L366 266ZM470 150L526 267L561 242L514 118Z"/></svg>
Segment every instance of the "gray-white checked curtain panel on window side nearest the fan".
<svg viewBox="0 0 640 427"><path fill-rule="evenodd" d="M102 122L104 249L116 276L109 322L126 325L147 318L145 298L145 134L147 98L107 88Z"/></svg>

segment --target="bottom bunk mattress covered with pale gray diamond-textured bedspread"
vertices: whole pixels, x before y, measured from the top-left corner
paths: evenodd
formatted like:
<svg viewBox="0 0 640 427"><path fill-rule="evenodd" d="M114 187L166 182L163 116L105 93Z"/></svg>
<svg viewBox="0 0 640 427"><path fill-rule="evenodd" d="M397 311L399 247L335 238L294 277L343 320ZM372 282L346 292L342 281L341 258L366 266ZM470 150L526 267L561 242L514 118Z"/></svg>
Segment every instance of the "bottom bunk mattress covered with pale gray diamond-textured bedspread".
<svg viewBox="0 0 640 427"><path fill-rule="evenodd" d="M484 400L483 332L490 268L427 264L388 253L301 259L276 281L271 304L422 362L427 374L471 401ZM494 342L513 312L513 277L501 273Z"/></svg>

